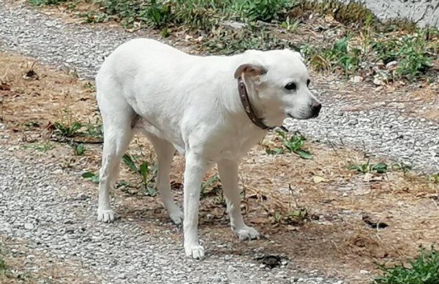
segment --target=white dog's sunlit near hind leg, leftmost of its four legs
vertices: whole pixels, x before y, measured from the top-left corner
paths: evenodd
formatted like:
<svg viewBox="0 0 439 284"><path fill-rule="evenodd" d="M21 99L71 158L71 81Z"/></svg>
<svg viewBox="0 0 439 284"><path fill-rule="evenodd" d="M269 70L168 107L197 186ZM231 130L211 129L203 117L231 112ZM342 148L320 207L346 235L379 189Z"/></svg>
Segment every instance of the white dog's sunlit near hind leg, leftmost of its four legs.
<svg viewBox="0 0 439 284"><path fill-rule="evenodd" d="M132 121L136 115L122 97L106 99L99 93L98 96L104 126L104 149L99 170L97 220L113 222L115 213L110 206L110 188L117 180L121 157L132 139Z"/></svg>

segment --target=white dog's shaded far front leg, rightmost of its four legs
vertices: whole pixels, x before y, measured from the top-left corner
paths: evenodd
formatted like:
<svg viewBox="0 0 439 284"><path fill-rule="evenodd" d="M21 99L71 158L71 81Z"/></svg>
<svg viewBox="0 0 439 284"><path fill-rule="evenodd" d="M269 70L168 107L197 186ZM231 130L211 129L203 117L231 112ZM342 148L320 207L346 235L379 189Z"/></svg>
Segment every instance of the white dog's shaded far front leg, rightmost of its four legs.
<svg viewBox="0 0 439 284"><path fill-rule="evenodd" d="M227 211L230 216L230 226L239 239L259 239L259 233L244 223L241 214L241 197L238 187L239 161L220 161L218 163L224 196L226 196Z"/></svg>

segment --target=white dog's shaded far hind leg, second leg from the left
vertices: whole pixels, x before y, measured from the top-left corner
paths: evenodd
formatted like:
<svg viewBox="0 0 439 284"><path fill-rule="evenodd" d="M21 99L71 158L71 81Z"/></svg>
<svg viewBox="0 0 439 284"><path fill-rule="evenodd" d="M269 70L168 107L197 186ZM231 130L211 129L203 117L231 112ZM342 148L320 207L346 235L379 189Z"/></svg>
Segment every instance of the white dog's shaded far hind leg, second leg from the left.
<svg viewBox="0 0 439 284"><path fill-rule="evenodd" d="M174 146L164 139L160 139L150 134L146 134L147 138L154 145L158 159L158 178L157 188L160 193L161 200L165 205L169 217L174 224L181 224L183 220L183 213L172 199L171 180L169 173L171 171L172 158L176 152Z"/></svg>

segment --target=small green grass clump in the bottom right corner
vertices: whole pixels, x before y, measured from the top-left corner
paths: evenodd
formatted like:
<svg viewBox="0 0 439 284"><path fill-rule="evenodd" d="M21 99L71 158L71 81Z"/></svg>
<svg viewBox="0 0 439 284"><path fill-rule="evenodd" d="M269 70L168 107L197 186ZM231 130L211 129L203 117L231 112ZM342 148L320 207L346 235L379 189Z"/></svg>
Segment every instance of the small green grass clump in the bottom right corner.
<svg viewBox="0 0 439 284"><path fill-rule="evenodd" d="M408 259L408 266L403 264L386 268L377 264L383 272L382 276L375 277L375 284L438 284L439 283L439 251L420 248L420 256Z"/></svg>

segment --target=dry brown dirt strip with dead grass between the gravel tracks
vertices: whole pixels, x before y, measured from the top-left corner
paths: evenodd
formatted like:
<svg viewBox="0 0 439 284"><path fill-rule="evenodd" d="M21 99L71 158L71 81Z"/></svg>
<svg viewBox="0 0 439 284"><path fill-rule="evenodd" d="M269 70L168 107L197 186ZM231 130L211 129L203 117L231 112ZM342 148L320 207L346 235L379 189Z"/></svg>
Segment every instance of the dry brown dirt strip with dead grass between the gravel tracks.
<svg viewBox="0 0 439 284"><path fill-rule="evenodd" d="M56 121L99 120L93 84L68 71L41 65L33 58L5 52L0 53L0 75L0 117L7 126L11 145L23 147L23 156L32 153L47 163L56 161L66 175L73 169L97 171L101 145L96 141L84 143L82 156L75 156L67 143L51 141ZM267 147L279 145L277 140L276 134L268 134L241 163L241 187L245 191L242 210L263 239L257 244L243 244L231 237L224 202L220 191L215 192L215 183L201 201L200 226L208 241L218 237L231 240L233 253L239 255L262 246L268 252L286 255L292 268L318 269L348 283L367 283L377 273L375 261L399 263L416 256L420 244L430 246L438 241L438 186L425 176L413 171L357 174L348 170L348 165L364 163L367 153L310 141L305 148L313 154L311 160L296 154L266 154ZM42 150L38 145L51 147ZM134 139L128 152L141 161L154 159L154 152L142 137ZM182 199L178 185L183 166L182 157L176 156L171 180L177 185L174 195L178 200ZM121 180L139 185L138 176L125 165L122 169ZM215 169L206 178L213 174ZM84 183L95 187L80 176L77 180L78 188ZM149 214L167 218L157 197L145 196L135 188L122 189L112 191L123 202L121 217L134 217L145 233L154 229L151 223L142 221L153 217ZM145 204L153 209L146 215L141 210ZM306 216L298 217L298 211ZM371 228L370 222L388 226ZM1 246L2 254L13 247L5 241ZM7 254L5 261L23 269L20 257ZM45 273L63 276L51 268Z"/></svg>

